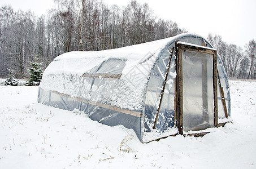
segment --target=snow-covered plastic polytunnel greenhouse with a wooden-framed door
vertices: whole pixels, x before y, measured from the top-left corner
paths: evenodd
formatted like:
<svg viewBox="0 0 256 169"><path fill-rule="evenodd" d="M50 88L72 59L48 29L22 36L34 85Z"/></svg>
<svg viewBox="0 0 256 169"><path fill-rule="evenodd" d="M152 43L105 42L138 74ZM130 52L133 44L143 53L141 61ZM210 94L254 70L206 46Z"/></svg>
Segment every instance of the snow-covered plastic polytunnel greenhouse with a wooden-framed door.
<svg viewBox="0 0 256 169"><path fill-rule="evenodd" d="M189 33L62 54L45 69L37 101L132 128L142 143L231 121L222 60L206 39Z"/></svg>

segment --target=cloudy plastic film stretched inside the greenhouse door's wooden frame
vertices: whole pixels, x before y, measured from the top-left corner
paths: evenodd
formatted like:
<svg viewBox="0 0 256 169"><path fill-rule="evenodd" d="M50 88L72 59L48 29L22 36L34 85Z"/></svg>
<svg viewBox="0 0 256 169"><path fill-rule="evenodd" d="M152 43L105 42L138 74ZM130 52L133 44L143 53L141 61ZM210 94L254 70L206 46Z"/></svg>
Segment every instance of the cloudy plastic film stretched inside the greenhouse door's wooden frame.
<svg viewBox="0 0 256 169"><path fill-rule="evenodd" d="M182 51L183 130L196 131L214 127L213 55Z"/></svg>

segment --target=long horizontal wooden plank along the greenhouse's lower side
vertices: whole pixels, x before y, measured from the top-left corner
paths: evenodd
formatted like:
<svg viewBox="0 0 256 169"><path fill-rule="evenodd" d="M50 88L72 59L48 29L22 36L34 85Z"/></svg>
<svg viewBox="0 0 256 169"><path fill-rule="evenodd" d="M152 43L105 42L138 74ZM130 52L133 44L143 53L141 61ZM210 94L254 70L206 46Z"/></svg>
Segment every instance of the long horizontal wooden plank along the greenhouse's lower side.
<svg viewBox="0 0 256 169"><path fill-rule="evenodd" d="M119 108L119 107L112 106L112 105L109 105L109 104L102 104L102 103L98 103L96 101L86 100L86 99L83 99L81 97L72 97L71 95L62 94L62 93L57 92L57 91L49 91L49 92L52 92L54 94L64 96L64 97L67 97L67 98L70 98L70 99L73 99L73 100L76 100L76 101L82 101L84 103L88 103L88 104L91 104L91 105L96 105L96 106L99 106L101 108L114 110L116 112L122 112L124 114L129 114L129 115L133 115L133 116L136 116L136 117L142 117L141 112L137 112L137 111L134 111L134 110L123 109L123 108Z"/></svg>

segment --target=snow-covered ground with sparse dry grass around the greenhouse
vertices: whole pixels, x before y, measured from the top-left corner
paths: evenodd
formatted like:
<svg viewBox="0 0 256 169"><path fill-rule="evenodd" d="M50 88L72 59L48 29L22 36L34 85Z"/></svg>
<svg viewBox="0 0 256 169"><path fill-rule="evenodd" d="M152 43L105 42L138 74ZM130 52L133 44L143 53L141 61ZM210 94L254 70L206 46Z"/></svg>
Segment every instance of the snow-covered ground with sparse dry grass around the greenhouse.
<svg viewBox="0 0 256 169"><path fill-rule="evenodd" d="M133 130L36 103L0 86L0 168L256 168L256 81L229 81L233 123L142 144Z"/></svg>

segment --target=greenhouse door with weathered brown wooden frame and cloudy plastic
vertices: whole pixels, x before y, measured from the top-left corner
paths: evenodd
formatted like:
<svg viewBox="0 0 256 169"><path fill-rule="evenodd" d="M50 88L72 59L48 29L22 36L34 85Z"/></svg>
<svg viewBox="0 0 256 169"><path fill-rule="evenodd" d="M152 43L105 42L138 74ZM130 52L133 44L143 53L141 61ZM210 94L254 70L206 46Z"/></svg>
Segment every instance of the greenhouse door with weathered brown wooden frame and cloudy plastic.
<svg viewBox="0 0 256 169"><path fill-rule="evenodd" d="M179 133L216 126L216 50L178 42L176 52L176 120Z"/></svg>

